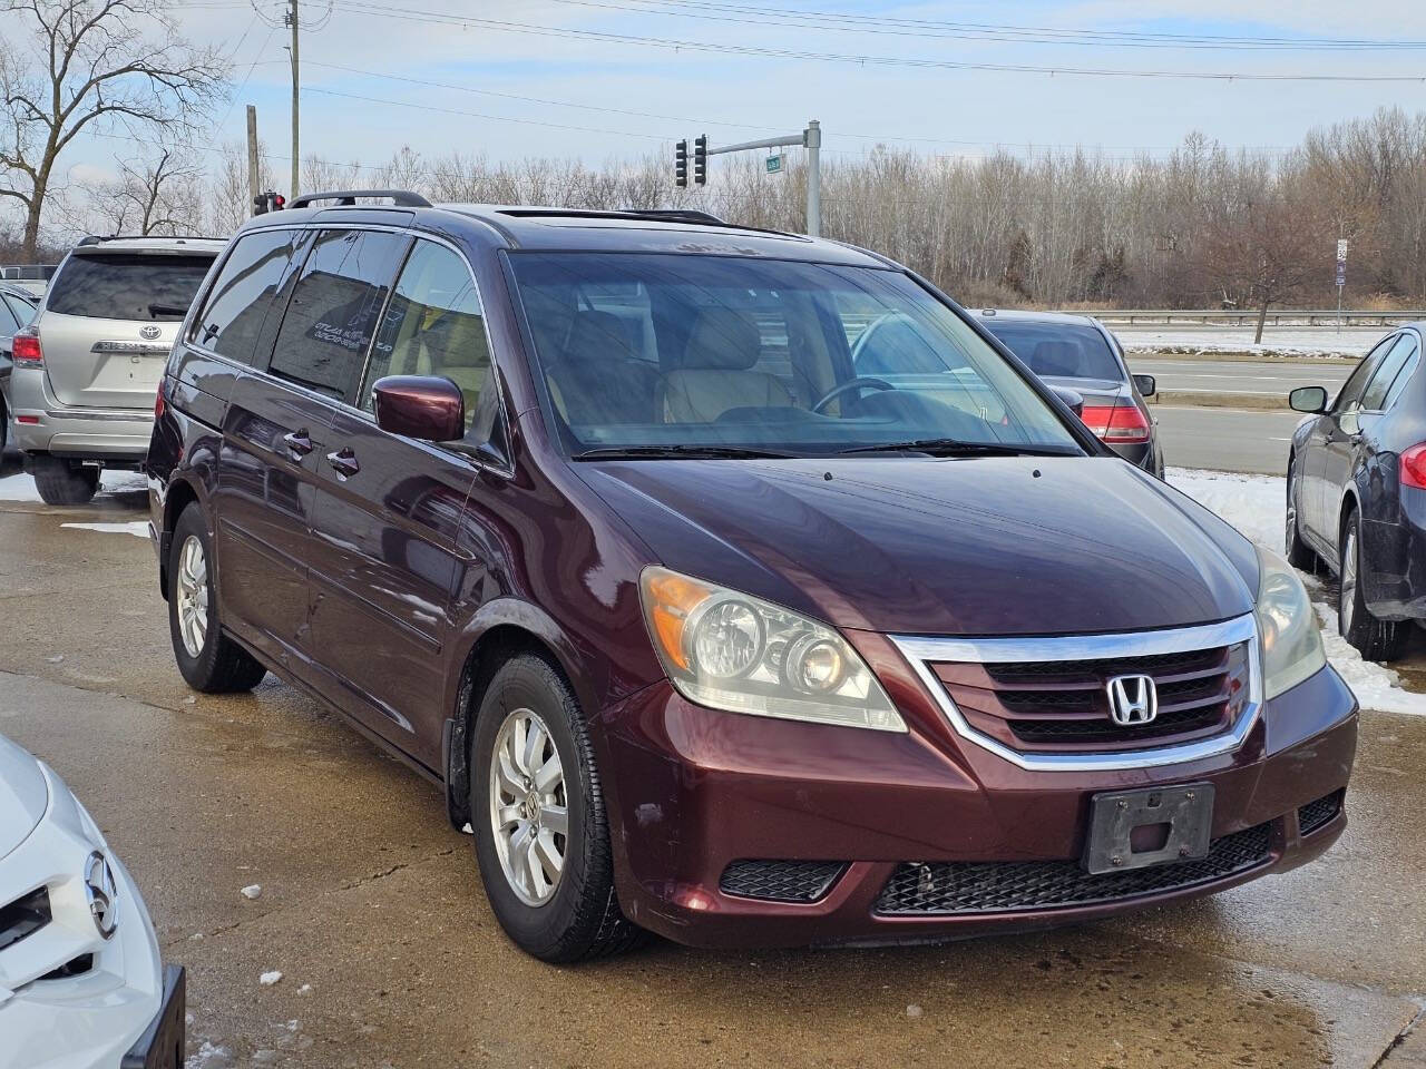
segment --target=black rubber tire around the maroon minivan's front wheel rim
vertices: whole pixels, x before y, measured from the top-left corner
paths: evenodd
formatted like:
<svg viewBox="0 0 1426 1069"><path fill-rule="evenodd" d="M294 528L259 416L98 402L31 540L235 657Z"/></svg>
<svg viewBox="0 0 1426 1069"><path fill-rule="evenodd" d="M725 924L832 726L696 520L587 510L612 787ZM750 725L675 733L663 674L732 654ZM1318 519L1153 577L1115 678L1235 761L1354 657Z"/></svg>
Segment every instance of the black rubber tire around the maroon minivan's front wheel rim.
<svg viewBox="0 0 1426 1069"><path fill-rule="evenodd" d="M550 842L558 845L563 840L563 865L549 898L539 904L523 901L523 892L506 875L491 805L491 777L502 728L529 713L548 728L559 757L558 797L565 801L568 828L563 837L552 834ZM615 894L609 820L595 751L579 703L553 664L525 653L495 673L481 698L469 760L475 859L505 934L526 954L548 962L599 958L637 944L643 932L620 912ZM538 830L539 824L533 827Z"/></svg>

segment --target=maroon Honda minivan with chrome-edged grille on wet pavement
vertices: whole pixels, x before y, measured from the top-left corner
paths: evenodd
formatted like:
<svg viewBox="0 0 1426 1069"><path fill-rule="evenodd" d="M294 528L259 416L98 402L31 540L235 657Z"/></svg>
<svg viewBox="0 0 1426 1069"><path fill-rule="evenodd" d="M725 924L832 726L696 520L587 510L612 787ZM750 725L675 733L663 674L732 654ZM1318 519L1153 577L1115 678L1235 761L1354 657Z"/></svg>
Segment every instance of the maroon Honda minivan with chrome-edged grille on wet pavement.
<svg viewBox="0 0 1426 1069"><path fill-rule="evenodd" d="M214 265L147 472L184 678L401 754L548 961L1082 921L1345 827L1293 570L857 248L302 197Z"/></svg>

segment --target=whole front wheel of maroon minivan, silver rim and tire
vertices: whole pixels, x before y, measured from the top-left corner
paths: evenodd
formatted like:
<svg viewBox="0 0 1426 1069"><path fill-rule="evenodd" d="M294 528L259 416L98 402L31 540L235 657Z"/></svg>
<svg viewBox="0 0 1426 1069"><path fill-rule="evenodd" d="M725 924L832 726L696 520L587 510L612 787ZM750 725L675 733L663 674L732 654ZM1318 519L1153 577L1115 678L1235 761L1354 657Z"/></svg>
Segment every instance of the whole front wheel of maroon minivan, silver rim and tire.
<svg viewBox="0 0 1426 1069"><path fill-rule="evenodd" d="M572 962L639 939L619 911L585 718L542 657L491 680L471 738L471 825L491 909L528 954Z"/></svg>

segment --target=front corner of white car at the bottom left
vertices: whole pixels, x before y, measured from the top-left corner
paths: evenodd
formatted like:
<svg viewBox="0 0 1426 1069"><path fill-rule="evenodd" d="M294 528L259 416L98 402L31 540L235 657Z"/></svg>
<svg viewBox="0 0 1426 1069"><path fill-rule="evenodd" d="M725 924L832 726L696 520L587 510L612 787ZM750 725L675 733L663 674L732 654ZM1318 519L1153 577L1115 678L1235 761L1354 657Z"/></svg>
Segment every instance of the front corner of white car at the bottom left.
<svg viewBox="0 0 1426 1069"><path fill-rule="evenodd" d="M0 735L0 1069L175 1069L184 1002L94 820Z"/></svg>

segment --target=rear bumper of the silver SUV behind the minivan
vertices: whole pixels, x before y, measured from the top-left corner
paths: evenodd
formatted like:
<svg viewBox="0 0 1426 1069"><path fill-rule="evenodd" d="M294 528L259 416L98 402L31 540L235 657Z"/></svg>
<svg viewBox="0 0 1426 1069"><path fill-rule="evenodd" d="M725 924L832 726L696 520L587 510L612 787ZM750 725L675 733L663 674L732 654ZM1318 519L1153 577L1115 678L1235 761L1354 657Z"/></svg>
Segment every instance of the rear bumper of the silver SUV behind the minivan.
<svg viewBox="0 0 1426 1069"><path fill-rule="evenodd" d="M64 405L50 391L43 368L16 368L10 379L20 450L124 465L143 460L148 452L153 412Z"/></svg>

